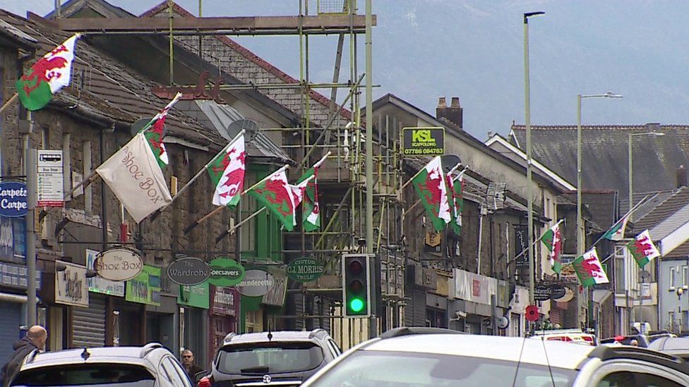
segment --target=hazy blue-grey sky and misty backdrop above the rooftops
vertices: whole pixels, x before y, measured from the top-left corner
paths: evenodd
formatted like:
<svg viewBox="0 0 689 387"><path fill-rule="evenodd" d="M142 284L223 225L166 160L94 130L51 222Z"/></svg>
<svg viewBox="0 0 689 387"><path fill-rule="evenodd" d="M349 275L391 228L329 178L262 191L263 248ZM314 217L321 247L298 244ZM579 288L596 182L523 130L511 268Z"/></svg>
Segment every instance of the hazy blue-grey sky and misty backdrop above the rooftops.
<svg viewBox="0 0 689 387"><path fill-rule="evenodd" d="M177 3L198 13L198 0ZM111 4L139 14L160 1ZM298 4L203 0L203 15L294 15ZM0 0L0 8L22 16L53 6L54 0ZM364 0L359 6L363 13ZM582 123L689 124L689 1L373 0L373 82L381 85L374 97L391 92L431 114L438 97L460 97L465 130L481 140L488 131L507 134L513 121L525 121L527 11L546 12L529 23L532 124L574 125L577 94L609 90L624 98L585 100ZM237 40L299 78L296 37ZM312 38L311 80L332 78L336 41ZM360 48L363 42L362 36ZM360 60L363 70L363 54Z"/></svg>

